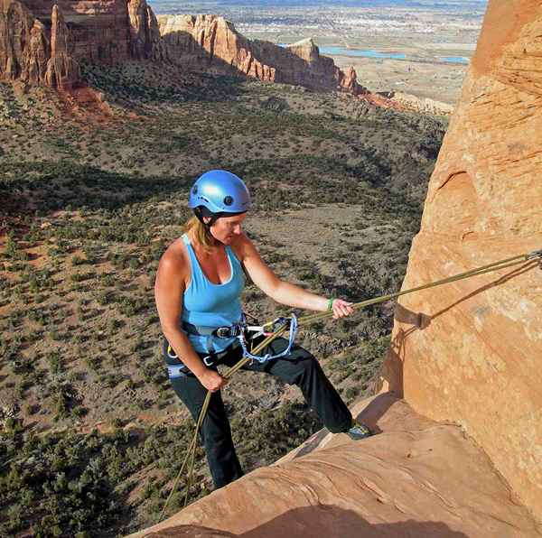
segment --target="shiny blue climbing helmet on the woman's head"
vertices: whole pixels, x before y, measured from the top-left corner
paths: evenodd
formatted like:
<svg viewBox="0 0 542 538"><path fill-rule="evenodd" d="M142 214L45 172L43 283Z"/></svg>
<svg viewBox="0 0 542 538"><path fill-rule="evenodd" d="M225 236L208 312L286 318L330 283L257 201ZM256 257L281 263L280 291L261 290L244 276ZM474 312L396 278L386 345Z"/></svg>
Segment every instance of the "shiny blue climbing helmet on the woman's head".
<svg viewBox="0 0 542 538"><path fill-rule="evenodd" d="M211 170L192 185L188 205L201 222L203 217L210 217L207 226L212 226L217 218L226 214L238 215L248 211L250 194L245 183L234 173Z"/></svg>

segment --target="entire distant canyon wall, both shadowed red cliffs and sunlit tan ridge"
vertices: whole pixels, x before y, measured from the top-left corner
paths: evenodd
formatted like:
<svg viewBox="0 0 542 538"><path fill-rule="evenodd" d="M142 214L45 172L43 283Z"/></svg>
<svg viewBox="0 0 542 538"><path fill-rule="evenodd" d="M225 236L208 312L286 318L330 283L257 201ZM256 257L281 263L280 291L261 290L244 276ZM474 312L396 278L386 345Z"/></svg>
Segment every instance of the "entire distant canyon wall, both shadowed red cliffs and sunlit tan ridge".
<svg viewBox="0 0 542 538"><path fill-rule="evenodd" d="M145 0L1 0L0 77L53 88L80 81L79 63L167 61L179 70L242 74L307 88L368 93L311 40L249 41L215 15L163 15Z"/></svg>

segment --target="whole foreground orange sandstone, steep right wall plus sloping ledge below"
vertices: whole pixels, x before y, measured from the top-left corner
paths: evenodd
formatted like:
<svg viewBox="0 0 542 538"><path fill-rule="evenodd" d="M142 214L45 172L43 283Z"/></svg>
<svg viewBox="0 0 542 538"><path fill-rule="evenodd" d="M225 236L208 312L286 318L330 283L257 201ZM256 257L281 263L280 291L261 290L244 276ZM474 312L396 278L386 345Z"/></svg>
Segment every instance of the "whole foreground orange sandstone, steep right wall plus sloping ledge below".
<svg viewBox="0 0 542 538"><path fill-rule="evenodd" d="M542 248L541 35L539 0L490 0L405 288ZM542 536L541 292L530 261L406 295L354 410L377 435L322 431L137 535Z"/></svg>

